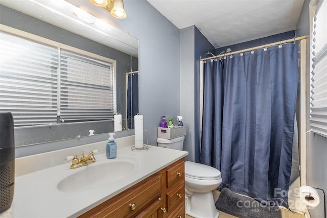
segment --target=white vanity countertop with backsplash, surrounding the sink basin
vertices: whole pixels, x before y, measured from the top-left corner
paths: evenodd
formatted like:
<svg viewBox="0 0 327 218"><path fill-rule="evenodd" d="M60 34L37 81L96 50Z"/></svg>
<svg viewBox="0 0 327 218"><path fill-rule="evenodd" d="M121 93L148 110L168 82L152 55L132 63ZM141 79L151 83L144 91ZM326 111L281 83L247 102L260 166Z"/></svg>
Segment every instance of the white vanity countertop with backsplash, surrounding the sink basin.
<svg viewBox="0 0 327 218"><path fill-rule="evenodd" d="M16 169L23 167L23 164L27 169L25 169L25 172L21 172L21 169L18 170L18 173L16 172L12 206L7 211L1 213L0 217L76 217L188 155L188 152L155 146L149 146L149 150L132 151L131 145L125 144L126 141L124 139L115 141L117 142L117 157L110 160L106 158L106 141L92 143L90 146L86 145L81 148L74 147L70 149L72 150L70 152L67 152L69 149L65 149L60 152L55 151L44 155L36 155L34 158L16 159ZM76 154L80 157L81 151L87 154L94 149L101 151L95 154L97 161L76 169L69 168L71 161L66 163L61 161L61 164L56 165L57 158L49 159L49 157L54 155L58 157L63 154L66 156ZM76 153L77 151L80 152ZM35 167L43 165L44 160L38 162L40 161L39 158L44 158L43 156L48 157L48 161L51 162L49 167L38 168L36 169L37 171L34 171ZM59 159L63 160L64 158L65 156L62 156ZM83 171L84 167L94 167L102 163L120 160L130 161L135 168L117 182L109 183L108 185L102 184L98 187L86 188L86 190L77 192L63 192L57 188L58 183L62 179L76 172ZM33 170L29 169L29 164L33 165L31 167ZM87 176L86 174L85 177Z"/></svg>

